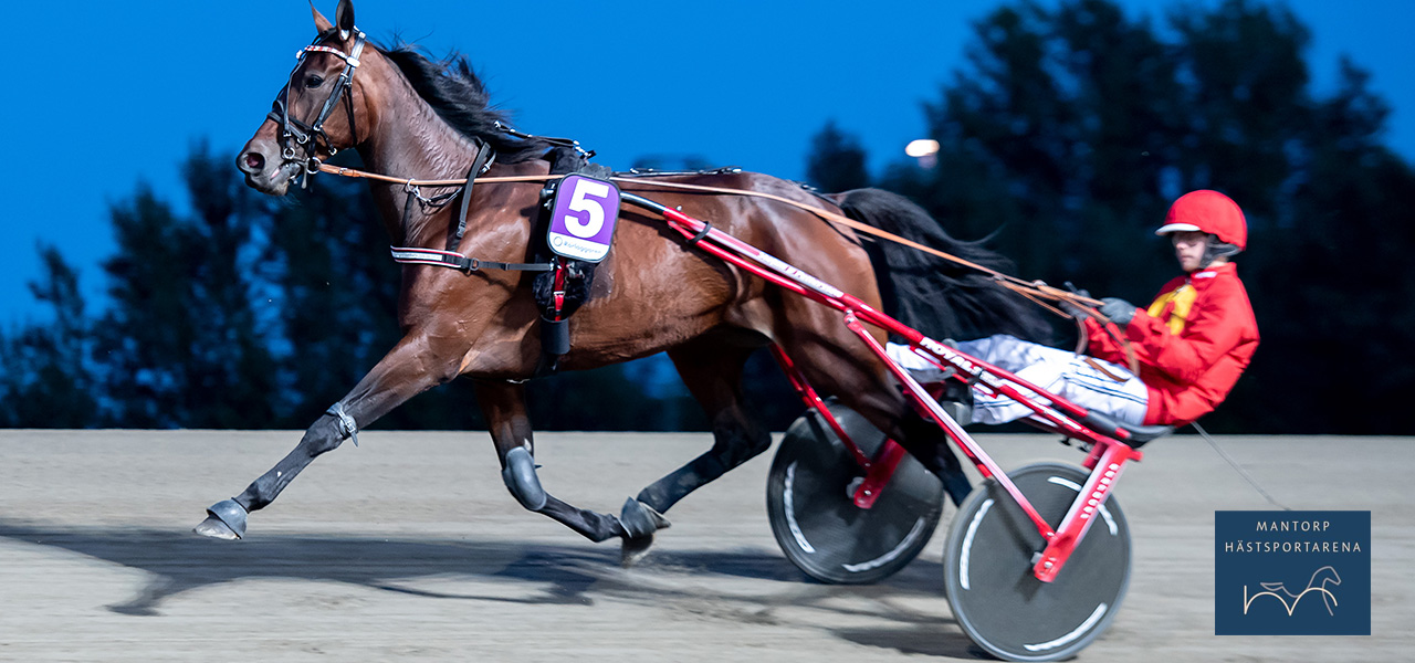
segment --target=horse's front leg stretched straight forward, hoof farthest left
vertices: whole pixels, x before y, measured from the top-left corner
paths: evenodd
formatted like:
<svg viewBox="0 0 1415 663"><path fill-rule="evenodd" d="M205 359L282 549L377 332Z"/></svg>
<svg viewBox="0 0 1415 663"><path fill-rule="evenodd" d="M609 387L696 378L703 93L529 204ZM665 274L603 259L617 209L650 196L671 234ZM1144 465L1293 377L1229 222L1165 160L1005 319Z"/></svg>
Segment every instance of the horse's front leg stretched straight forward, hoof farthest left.
<svg viewBox="0 0 1415 663"><path fill-rule="evenodd" d="M434 348L433 338L437 338ZM246 515L266 507L314 458L334 451L358 430L376 421L408 399L451 380L460 372L458 359L466 346L447 336L409 334L374 366L344 399L314 421L300 444L276 467L260 475L241 495L218 502L195 532L214 539L241 539L246 533Z"/></svg>

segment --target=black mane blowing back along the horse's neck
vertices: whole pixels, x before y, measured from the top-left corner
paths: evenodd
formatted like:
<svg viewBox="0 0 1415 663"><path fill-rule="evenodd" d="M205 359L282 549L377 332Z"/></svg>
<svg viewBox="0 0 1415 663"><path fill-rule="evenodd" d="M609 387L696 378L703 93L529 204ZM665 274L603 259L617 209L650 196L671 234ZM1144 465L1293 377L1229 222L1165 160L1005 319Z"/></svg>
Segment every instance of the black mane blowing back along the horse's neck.
<svg viewBox="0 0 1415 663"><path fill-rule="evenodd" d="M417 96L453 129L468 139L490 143L497 150L498 163L515 164L539 158L550 147L497 129L497 122L508 124L507 116L491 107L487 88L471 71L466 55L454 52L441 62L433 62L413 45L378 51L403 72Z"/></svg>

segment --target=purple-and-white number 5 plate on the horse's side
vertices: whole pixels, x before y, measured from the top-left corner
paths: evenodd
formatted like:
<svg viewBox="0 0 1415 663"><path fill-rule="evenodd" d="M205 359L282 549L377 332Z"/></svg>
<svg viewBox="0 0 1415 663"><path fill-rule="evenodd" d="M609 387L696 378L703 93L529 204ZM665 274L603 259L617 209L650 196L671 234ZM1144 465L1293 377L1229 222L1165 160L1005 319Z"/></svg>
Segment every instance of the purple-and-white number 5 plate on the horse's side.
<svg viewBox="0 0 1415 663"><path fill-rule="evenodd" d="M566 175L555 189L546 243L555 253L587 263L604 260L618 221L620 192L613 182Z"/></svg>

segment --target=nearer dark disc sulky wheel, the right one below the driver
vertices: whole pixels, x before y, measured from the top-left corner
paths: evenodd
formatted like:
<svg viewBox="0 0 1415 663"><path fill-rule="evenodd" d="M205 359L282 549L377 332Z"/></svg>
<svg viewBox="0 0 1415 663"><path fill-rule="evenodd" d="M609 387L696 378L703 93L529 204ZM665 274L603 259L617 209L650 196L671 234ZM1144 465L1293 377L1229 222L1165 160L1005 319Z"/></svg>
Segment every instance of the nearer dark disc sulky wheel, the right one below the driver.
<svg viewBox="0 0 1415 663"><path fill-rule="evenodd" d="M1009 472L1053 526L1085 483L1073 465L1041 462ZM964 500L944 547L948 605L978 646L1005 660L1061 660L1091 643L1115 618L1131 578L1131 530L1111 495L1101 519L1053 582L1032 575L1044 546L1036 526L996 481Z"/></svg>

